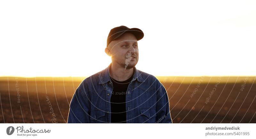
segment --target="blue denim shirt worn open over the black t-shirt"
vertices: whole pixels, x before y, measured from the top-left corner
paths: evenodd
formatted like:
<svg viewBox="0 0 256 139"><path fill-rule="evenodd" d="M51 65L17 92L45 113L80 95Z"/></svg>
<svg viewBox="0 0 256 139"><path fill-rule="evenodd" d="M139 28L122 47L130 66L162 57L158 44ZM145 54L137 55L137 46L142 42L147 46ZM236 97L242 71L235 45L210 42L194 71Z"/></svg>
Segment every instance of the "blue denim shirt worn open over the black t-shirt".
<svg viewBox="0 0 256 139"><path fill-rule="evenodd" d="M70 102L68 123L111 122L110 66L84 79L77 87ZM163 84L136 68L126 92L126 123L172 123Z"/></svg>

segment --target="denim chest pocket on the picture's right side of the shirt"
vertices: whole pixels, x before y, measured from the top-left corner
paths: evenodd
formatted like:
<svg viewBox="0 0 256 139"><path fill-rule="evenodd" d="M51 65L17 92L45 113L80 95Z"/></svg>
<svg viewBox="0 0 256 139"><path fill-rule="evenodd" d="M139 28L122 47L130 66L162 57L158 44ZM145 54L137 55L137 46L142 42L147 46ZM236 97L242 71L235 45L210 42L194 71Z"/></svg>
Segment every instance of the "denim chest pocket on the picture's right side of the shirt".
<svg viewBox="0 0 256 139"><path fill-rule="evenodd" d="M140 123L155 123L156 108L140 108Z"/></svg>

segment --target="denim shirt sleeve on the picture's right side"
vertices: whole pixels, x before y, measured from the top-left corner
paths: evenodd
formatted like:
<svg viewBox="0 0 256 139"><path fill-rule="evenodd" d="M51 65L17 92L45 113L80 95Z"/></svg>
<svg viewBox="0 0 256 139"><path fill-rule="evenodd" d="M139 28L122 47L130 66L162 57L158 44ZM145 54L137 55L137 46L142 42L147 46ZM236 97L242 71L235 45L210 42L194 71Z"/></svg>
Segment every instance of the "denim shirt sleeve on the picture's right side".
<svg viewBox="0 0 256 139"><path fill-rule="evenodd" d="M163 84L161 83L157 91L156 123L172 123L169 98Z"/></svg>

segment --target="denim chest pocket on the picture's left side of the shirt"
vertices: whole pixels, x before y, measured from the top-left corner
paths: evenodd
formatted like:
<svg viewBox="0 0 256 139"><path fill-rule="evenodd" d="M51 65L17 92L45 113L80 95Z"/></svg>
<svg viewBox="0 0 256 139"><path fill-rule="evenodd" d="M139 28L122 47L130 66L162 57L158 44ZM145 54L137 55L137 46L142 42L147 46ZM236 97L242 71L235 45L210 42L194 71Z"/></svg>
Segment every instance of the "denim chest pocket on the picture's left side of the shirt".
<svg viewBox="0 0 256 139"><path fill-rule="evenodd" d="M106 115L104 109L91 110L90 121L91 123L106 123Z"/></svg>

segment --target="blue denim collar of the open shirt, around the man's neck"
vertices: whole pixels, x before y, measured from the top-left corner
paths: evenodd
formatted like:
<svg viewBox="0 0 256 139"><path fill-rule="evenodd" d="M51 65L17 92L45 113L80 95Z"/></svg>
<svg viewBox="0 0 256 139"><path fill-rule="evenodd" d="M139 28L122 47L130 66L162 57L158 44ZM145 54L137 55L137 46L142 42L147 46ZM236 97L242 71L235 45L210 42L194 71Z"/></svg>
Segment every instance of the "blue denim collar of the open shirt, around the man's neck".
<svg viewBox="0 0 256 139"><path fill-rule="evenodd" d="M100 80L99 84L106 84L108 81L111 81L110 79L110 74L109 74L109 70L110 70L110 66L112 63L109 64L109 66L103 70L102 77L103 79ZM143 82L143 78L140 76L140 72L136 69L136 67L134 67L133 70L133 77L132 77L132 81L135 81L137 79L137 81Z"/></svg>

